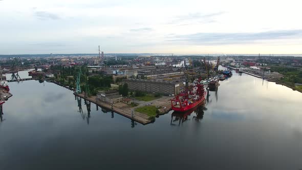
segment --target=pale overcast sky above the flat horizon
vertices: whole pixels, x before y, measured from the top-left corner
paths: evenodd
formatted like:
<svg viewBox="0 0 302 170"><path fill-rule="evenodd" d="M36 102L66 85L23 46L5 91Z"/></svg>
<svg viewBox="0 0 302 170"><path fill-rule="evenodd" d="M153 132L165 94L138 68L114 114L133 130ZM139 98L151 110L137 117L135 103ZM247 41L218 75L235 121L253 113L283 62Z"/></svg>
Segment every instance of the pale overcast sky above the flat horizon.
<svg viewBox="0 0 302 170"><path fill-rule="evenodd" d="M0 0L0 54L301 54L300 0Z"/></svg>

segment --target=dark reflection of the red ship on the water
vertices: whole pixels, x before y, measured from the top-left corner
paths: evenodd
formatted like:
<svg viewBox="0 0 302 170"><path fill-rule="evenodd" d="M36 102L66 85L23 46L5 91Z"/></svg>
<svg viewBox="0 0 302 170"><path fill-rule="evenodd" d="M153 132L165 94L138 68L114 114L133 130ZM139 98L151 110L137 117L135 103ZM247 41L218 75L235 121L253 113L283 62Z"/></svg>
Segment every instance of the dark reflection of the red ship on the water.
<svg viewBox="0 0 302 170"><path fill-rule="evenodd" d="M190 120L189 117L191 116L192 113L193 113L192 120L200 121L203 118L204 110L206 110L206 108L203 106L200 106L200 107L197 107L196 109L192 109L187 112L174 111L171 114L170 124L177 125L177 122L178 122L178 125L180 125L180 123ZM176 122L176 124L174 122Z"/></svg>

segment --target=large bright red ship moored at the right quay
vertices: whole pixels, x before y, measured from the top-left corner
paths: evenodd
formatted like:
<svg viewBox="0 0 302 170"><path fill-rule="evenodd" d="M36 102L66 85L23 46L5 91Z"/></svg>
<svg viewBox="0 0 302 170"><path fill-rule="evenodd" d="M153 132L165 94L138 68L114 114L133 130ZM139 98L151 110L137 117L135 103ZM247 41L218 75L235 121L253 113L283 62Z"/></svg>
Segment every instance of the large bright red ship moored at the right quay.
<svg viewBox="0 0 302 170"><path fill-rule="evenodd" d="M206 91L201 82L201 78L195 79L193 85L187 86L179 95L171 99L172 110L186 112L205 102ZM187 84L187 82L186 82Z"/></svg>

